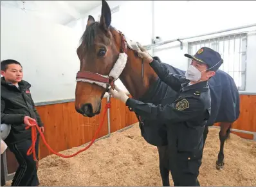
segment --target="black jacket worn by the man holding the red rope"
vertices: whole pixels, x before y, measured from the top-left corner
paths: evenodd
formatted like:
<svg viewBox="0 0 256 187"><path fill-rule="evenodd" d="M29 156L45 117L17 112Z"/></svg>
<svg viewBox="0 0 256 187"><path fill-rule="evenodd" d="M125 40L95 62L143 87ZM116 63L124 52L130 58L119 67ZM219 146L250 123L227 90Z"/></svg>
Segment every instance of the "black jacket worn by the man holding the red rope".
<svg viewBox="0 0 256 187"><path fill-rule="evenodd" d="M6 143L17 143L24 139L31 139L31 130L26 130L24 116L30 116L37 120L39 127L43 126L41 118L35 109L30 94L31 85L22 80L19 88L9 84L5 78L1 78L1 123L12 126L10 134L5 139Z"/></svg>

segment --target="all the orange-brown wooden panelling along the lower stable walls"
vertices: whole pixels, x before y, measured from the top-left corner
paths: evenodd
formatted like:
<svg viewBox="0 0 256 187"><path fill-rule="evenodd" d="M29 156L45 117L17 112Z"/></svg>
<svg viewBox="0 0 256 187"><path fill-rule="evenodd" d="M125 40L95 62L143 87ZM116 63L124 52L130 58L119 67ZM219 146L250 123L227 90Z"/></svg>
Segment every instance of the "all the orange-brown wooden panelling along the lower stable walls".
<svg viewBox="0 0 256 187"><path fill-rule="evenodd" d="M130 96L131 97L131 96ZM248 130L256 132L256 95L241 95L241 114L239 119L233 123L233 129ZM107 99L102 100L102 112ZM95 131L102 119L102 114L94 118L85 118L75 111L75 103L59 103L37 107L37 110L45 124L44 136L57 152L72 147L78 147L93 139ZM111 132L123 129L138 122L134 112L129 111L124 103L111 98L110 123ZM218 124L215 124L218 125ZM107 115L104 127L100 130L98 138L107 135ZM242 138L251 139L252 136L244 133L233 132ZM46 157L50 152L40 143L40 156Z"/></svg>

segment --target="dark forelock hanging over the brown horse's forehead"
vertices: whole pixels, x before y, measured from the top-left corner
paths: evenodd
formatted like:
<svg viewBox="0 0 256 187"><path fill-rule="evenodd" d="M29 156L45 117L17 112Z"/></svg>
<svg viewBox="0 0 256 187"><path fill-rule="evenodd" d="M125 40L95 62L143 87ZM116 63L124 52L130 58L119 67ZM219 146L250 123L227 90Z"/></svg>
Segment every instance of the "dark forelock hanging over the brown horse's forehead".
<svg viewBox="0 0 256 187"><path fill-rule="evenodd" d="M86 30L84 31L82 37L80 38L80 43L87 48L93 46L95 44L96 35L98 33L98 25L100 22L95 21L89 26L87 26ZM110 29L114 29L113 26L109 26Z"/></svg>

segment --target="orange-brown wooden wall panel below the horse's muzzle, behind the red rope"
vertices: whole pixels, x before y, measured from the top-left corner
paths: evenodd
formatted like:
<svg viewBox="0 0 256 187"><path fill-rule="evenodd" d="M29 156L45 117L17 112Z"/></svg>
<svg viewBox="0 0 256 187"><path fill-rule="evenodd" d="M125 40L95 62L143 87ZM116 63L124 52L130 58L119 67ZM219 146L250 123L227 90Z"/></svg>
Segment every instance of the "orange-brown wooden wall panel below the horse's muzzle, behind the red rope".
<svg viewBox="0 0 256 187"><path fill-rule="evenodd" d="M107 99L102 100L102 113L95 118L85 118L75 111L75 103L59 103L37 107L44 123L44 136L53 150L60 152L90 142L102 120ZM107 135L107 114L104 126L97 138ZM48 148L40 142L40 157L50 155Z"/></svg>

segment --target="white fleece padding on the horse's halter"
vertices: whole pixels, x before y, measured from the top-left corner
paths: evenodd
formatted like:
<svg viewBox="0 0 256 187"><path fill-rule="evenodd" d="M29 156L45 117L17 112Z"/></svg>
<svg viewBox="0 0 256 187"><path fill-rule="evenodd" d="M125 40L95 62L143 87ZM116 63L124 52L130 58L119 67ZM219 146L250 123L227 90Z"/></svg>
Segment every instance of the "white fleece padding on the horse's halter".
<svg viewBox="0 0 256 187"><path fill-rule="evenodd" d="M127 63L127 55L126 53L120 53L118 59L116 60L116 63L114 64L113 69L111 69L109 76L112 76L114 80L118 79L118 77L121 75L124 67L126 66ZM107 75L101 75L104 76L105 78L109 78ZM98 82L95 80L88 80L88 79L83 79L83 78L78 78L77 82L88 82L90 84L96 84L100 85L101 87L106 88L107 84L104 82Z"/></svg>

